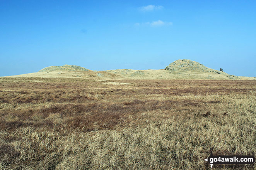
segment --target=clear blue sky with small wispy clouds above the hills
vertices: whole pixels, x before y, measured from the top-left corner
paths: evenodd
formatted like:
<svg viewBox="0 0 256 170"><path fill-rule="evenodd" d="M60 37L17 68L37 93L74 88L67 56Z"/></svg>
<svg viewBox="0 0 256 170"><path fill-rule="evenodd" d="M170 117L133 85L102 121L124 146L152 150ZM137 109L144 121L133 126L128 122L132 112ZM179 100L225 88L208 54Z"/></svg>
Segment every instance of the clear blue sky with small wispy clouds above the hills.
<svg viewBox="0 0 256 170"><path fill-rule="evenodd" d="M256 77L256 1L0 0L0 76L64 64L164 69L177 59Z"/></svg>

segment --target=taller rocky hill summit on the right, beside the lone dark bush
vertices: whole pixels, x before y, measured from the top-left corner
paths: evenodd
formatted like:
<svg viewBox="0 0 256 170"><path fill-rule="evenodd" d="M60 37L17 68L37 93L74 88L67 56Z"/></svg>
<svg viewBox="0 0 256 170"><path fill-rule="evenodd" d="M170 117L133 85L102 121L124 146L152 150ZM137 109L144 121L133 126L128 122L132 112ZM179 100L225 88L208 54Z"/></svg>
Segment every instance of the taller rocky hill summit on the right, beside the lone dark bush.
<svg viewBox="0 0 256 170"><path fill-rule="evenodd" d="M202 72L213 72L213 69L205 67L203 64L199 62L183 59L183 60L176 60L169 64L169 66L165 67L165 70L170 71L202 71Z"/></svg>

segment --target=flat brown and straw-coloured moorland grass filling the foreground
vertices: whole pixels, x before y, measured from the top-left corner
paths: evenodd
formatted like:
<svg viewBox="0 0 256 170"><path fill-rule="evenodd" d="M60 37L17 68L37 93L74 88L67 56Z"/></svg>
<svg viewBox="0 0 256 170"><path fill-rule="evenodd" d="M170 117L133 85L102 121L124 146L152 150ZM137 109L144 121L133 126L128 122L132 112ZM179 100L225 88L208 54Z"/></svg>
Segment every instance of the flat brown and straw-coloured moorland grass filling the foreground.
<svg viewBox="0 0 256 170"><path fill-rule="evenodd" d="M209 169L210 147L255 156L256 81L112 82L0 78L0 169Z"/></svg>

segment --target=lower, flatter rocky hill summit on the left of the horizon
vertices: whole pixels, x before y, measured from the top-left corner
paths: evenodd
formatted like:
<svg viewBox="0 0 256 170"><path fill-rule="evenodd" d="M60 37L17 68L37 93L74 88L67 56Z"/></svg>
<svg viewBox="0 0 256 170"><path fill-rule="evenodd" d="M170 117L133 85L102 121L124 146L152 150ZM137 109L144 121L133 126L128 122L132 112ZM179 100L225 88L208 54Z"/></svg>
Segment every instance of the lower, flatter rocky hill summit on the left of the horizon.
<svg viewBox="0 0 256 170"><path fill-rule="evenodd" d="M46 72L46 71L89 71L89 70L84 67L65 64L63 66L45 67L44 69L41 69L38 72Z"/></svg>

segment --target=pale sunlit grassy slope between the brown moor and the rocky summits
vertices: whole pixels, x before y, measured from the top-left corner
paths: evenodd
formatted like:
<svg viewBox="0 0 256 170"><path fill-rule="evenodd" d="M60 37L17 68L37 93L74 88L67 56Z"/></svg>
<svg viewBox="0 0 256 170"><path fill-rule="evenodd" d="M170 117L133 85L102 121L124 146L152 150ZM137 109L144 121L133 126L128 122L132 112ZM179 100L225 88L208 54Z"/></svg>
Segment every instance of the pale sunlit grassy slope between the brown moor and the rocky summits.
<svg viewBox="0 0 256 170"><path fill-rule="evenodd" d="M107 71L47 71L47 72L34 72L28 74L15 75L10 77L41 77L41 78L76 78L76 79L95 79L104 80L123 80L123 79L207 79L207 80L256 80L256 77L232 76L225 72L210 69L210 71L169 71L169 70L107 70ZM109 82L110 83L110 82Z"/></svg>

